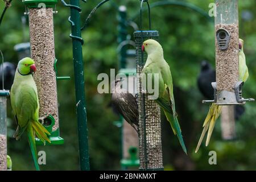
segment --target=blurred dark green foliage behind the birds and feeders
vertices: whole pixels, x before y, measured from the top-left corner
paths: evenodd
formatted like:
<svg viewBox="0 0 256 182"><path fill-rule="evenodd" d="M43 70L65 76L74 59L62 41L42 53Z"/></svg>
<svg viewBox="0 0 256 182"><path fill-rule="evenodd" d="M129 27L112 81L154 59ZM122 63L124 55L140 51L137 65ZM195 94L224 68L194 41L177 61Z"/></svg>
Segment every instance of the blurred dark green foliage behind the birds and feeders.
<svg viewBox="0 0 256 182"><path fill-rule="evenodd" d="M67 1L68 2L68 1ZM82 18L89 14L100 1L81 2ZM113 2L113 3L112 3ZM151 0L150 3L156 2ZM206 13L213 0L187 0ZM118 68L117 56L117 7L127 6L129 18L139 11L138 0L112 0L102 6L90 21L89 27L82 32L85 40L83 46L86 105L89 127L90 164L93 170L120 169L119 129L113 125L118 117L108 106L110 94L97 93L97 75L109 73L110 68ZM4 3L0 1L1 11ZM249 80L243 89L244 97L256 98L256 1L240 1L240 37L245 40L245 54L249 67ZM59 75L69 75L69 81L57 81L60 133L65 139L63 146L39 146L38 150L47 153L47 165L43 170L77 170L79 169L79 148L77 139L77 121L75 107L75 86L72 63L72 42L69 38L71 25L68 22L70 13L59 1L58 14L54 15L55 52L59 60ZM0 27L0 49L5 61L18 63L18 55L14 51L15 44L27 42L29 39L28 24L23 35L21 17L24 13L22 1L13 1L7 10ZM165 58L171 65L175 85L177 113L188 156L181 151L179 143L172 134L168 122L163 117L163 154L166 169L256 169L256 105L245 105L246 112L237 121L237 140L223 141L220 122L216 123L212 140L206 148L204 144L195 154L195 147L201 134L201 126L207 115L209 106L201 104L201 96L196 85L202 60L208 60L213 66L214 57L214 25L207 18L195 11L176 5L155 7L151 10L152 29L160 32L160 43L164 48ZM147 22L147 14L144 14ZM138 17L134 19L138 23ZM146 27L146 23L145 23ZM133 36L133 30L129 30ZM133 38L132 38L133 39ZM9 140L8 153L13 159L14 170L34 170L34 164L24 135L20 141L11 137L16 124L8 102ZM208 152L217 152L217 165L209 165Z"/></svg>

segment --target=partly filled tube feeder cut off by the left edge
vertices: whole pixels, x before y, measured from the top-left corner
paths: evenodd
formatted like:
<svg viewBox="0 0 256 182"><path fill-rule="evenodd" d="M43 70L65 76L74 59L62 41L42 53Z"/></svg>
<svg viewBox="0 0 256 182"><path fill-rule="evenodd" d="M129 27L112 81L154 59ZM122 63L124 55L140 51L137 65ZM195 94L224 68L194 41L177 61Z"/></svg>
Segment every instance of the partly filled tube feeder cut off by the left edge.
<svg viewBox="0 0 256 182"><path fill-rule="evenodd" d="M0 90L0 171L7 171L6 97L8 90Z"/></svg>

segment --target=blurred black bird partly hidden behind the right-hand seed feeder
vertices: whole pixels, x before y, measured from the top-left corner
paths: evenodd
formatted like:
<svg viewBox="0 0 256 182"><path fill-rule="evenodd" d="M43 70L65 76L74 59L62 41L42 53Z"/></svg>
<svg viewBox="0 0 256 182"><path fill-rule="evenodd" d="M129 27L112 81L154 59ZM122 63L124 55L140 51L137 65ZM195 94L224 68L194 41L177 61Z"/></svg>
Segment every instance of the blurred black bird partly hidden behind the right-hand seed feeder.
<svg viewBox="0 0 256 182"><path fill-rule="evenodd" d="M201 72L197 77L197 86L205 98L208 100L214 99L214 90L212 82L216 81L216 71L207 61L201 62ZM245 113L245 107L241 105L235 106L235 118L238 120Z"/></svg>

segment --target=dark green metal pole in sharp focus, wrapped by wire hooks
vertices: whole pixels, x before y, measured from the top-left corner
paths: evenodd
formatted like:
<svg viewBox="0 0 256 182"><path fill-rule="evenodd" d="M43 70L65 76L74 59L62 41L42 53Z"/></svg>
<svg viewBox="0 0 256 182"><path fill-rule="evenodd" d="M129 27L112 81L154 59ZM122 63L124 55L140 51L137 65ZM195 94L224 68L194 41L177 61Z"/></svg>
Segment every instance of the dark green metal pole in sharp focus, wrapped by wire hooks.
<svg viewBox="0 0 256 182"><path fill-rule="evenodd" d="M78 0L70 0L70 4L80 7ZM80 11L71 8L72 24L72 43L73 43L73 64L75 71L75 88L76 88L76 111L77 127L79 134L79 155L80 169L82 171L90 170L89 150L88 150L88 129L85 107L85 88L84 88L84 67L82 63L82 39L80 27Z"/></svg>

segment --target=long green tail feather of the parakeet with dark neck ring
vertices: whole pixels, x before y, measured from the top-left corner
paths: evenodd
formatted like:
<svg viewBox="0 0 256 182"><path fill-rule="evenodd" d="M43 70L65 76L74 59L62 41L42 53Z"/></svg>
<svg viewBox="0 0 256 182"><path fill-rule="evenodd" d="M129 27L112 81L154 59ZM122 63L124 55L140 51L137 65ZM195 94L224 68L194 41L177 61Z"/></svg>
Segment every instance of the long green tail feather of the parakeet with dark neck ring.
<svg viewBox="0 0 256 182"><path fill-rule="evenodd" d="M28 143L30 144L30 149L31 149L32 157L35 163L36 171L40 171L40 168L38 165L37 152L36 152L35 136L34 136L31 122L28 122L27 137L28 137Z"/></svg>

